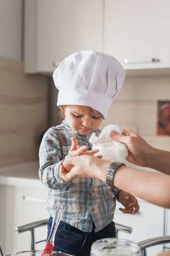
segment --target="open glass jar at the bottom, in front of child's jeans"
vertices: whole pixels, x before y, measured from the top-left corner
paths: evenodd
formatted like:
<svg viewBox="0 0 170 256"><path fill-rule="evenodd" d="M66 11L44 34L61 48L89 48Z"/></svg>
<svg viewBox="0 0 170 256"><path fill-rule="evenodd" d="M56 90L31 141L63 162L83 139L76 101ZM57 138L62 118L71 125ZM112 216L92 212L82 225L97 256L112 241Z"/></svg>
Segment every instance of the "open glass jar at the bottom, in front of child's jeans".
<svg viewBox="0 0 170 256"><path fill-rule="evenodd" d="M141 247L133 241L106 238L92 244L91 256L141 256Z"/></svg>

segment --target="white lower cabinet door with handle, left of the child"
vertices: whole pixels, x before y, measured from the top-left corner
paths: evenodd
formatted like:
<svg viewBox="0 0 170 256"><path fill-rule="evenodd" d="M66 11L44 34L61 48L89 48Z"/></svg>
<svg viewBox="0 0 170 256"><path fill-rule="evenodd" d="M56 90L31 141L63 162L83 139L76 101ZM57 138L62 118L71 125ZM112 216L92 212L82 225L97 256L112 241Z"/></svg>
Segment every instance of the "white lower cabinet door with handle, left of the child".
<svg viewBox="0 0 170 256"><path fill-rule="evenodd" d="M48 219L49 215L46 210L47 206L47 189L42 185L41 188L16 187L15 189L15 216L14 226L29 224L34 221ZM14 230L14 227L13 227ZM29 232L14 234L16 251L29 250ZM46 239L47 227L43 226L35 229L35 241ZM36 244L36 250L42 250L44 242ZM14 251L13 250L13 251Z"/></svg>

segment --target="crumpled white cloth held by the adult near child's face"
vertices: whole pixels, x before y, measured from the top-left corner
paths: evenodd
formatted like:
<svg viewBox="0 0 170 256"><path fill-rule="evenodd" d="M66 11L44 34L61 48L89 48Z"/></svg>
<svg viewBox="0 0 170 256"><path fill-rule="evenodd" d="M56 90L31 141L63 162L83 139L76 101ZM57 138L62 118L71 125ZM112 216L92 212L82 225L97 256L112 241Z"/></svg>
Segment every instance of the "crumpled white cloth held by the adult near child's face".
<svg viewBox="0 0 170 256"><path fill-rule="evenodd" d="M123 143L113 140L110 135L111 131L121 134L118 125L108 125L99 137L92 133L89 142L92 143L92 149L99 150L99 153L96 153L95 156L102 154L105 160L110 160L112 163L123 163L128 154L127 147Z"/></svg>

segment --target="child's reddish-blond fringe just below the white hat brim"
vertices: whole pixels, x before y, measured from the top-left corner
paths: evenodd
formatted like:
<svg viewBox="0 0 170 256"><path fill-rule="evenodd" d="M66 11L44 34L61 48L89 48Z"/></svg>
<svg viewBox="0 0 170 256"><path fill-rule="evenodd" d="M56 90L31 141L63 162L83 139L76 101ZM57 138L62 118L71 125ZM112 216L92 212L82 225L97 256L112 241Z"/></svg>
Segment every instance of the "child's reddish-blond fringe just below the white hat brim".
<svg viewBox="0 0 170 256"><path fill-rule="evenodd" d="M87 106L79 106L79 105L61 105L59 106L61 114L65 117L65 110L66 108L76 107L76 111L79 113L88 112L89 116L101 116L101 113L97 110L87 107Z"/></svg>

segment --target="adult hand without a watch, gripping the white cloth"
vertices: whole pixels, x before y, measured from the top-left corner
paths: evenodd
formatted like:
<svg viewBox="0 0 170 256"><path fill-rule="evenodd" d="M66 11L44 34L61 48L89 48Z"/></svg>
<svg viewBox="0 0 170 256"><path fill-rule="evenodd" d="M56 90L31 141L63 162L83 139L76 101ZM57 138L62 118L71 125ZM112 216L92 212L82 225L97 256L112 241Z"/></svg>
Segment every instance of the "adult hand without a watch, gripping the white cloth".
<svg viewBox="0 0 170 256"><path fill-rule="evenodd" d="M112 131L111 137L113 140L124 143L127 146L127 161L138 166L149 167L149 163L153 160L153 153L156 148L149 145L141 136L135 133L135 131L124 130L123 135Z"/></svg>

